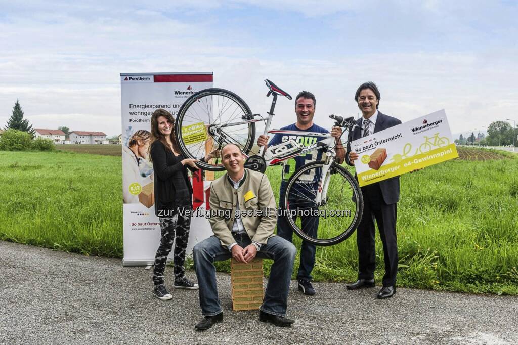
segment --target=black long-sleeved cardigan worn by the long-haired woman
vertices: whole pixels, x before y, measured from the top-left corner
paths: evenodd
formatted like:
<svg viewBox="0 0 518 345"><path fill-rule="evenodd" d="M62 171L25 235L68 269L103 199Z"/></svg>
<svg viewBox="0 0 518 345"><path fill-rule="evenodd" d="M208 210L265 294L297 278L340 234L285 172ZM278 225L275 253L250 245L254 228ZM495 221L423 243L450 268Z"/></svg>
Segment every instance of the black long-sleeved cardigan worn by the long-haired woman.
<svg viewBox="0 0 518 345"><path fill-rule="evenodd" d="M184 157L175 156L167 150L160 140L151 144L151 160L153 161L155 215L157 217L172 217L177 207L192 207L193 188L187 168L198 170L181 161Z"/></svg>

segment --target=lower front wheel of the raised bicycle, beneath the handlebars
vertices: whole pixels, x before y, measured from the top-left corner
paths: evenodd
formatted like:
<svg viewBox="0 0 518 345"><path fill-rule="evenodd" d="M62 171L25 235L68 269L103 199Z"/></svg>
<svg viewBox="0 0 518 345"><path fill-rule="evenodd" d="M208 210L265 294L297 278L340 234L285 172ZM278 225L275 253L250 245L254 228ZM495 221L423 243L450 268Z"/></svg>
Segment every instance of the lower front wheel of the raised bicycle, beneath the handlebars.
<svg viewBox="0 0 518 345"><path fill-rule="evenodd" d="M342 166L333 163L328 174L327 194L320 205L316 195L323 176L323 161L297 169L281 198L281 212L293 231L318 246L332 246L346 240L362 219L363 196L358 182Z"/></svg>

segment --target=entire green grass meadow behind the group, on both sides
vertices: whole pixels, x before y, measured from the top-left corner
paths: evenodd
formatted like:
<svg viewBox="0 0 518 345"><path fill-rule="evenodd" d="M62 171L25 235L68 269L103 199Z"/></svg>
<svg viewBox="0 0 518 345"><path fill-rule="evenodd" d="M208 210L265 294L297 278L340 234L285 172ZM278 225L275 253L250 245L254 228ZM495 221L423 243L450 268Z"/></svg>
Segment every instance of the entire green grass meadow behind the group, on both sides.
<svg viewBox="0 0 518 345"><path fill-rule="evenodd" d="M0 168L0 239L122 257L120 157L0 151ZM279 171L267 173L278 191ZM398 286L518 295L517 223L512 156L449 161L402 176ZM355 235L316 256L316 281L356 279ZM378 235L377 262L380 282Z"/></svg>

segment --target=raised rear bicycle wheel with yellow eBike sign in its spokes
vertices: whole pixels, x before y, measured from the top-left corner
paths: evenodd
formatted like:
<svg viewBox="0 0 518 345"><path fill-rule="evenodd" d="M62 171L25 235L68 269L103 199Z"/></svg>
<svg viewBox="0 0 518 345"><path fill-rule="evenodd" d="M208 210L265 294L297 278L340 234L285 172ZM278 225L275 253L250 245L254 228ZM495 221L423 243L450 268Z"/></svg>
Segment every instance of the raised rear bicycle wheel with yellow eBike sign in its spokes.
<svg viewBox="0 0 518 345"><path fill-rule="evenodd" d="M176 119L175 134L180 151L185 157L201 159L226 143L235 143L249 155L255 139L255 124L240 122L243 115L251 113L244 100L231 91L211 88L195 93L183 103ZM210 171L224 169L220 159L197 165Z"/></svg>

